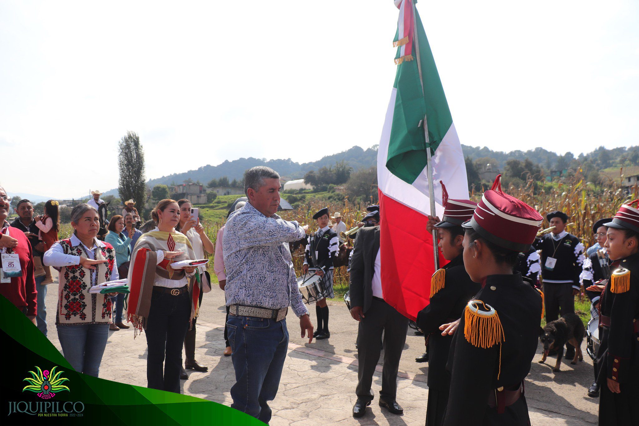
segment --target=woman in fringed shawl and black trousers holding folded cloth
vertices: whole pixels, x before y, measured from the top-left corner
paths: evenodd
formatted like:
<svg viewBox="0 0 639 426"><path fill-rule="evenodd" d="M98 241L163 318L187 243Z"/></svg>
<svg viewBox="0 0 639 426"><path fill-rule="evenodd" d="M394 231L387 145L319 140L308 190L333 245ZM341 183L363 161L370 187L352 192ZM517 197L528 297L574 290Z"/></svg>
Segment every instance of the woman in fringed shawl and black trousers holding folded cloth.
<svg viewBox="0 0 639 426"><path fill-rule="evenodd" d="M128 321L134 325L134 336L145 331L148 387L180 393L182 344L197 316L199 284L194 266L173 269L171 264L196 257L189 239L175 231L180 223L178 202L158 202L151 217L157 227L142 234L131 256Z"/></svg>

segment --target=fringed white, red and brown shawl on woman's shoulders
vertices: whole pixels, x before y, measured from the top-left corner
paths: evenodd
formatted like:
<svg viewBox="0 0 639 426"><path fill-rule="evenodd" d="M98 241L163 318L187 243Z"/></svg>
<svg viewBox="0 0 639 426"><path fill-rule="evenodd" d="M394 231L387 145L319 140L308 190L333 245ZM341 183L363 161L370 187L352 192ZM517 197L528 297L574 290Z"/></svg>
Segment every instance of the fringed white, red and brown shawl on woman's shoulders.
<svg viewBox="0 0 639 426"><path fill-rule="evenodd" d="M183 252L183 254L177 255L173 259L164 259L158 264L157 250ZM146 327L146 318L149 316L151 308L151 294L156 277L181 280L185 277L185 271L174 270L171 268L171 263L194 260L195 258L189 239L180 232L154 230L140 236L135 243L128 270L128 285L131 293L128 295L127 319L134 325L134 337ZM199 310L199 280L192 277L189 279L188 285L191 301L190 321L197 316Z"/></svg>

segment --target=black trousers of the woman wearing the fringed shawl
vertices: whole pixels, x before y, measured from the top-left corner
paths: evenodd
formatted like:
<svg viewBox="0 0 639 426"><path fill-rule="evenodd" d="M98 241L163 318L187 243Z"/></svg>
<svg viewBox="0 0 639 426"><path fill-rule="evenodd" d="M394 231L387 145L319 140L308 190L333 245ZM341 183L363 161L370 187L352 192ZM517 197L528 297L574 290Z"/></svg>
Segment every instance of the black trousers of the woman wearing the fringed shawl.
<svg viewBox="0 0 639 426"><path fill-rule="evenodd" d="M188 292L172 296L169 293L153 291L144 330L148 346L148 388L180 393L182 345L189 329L190 314Z"/></svg>

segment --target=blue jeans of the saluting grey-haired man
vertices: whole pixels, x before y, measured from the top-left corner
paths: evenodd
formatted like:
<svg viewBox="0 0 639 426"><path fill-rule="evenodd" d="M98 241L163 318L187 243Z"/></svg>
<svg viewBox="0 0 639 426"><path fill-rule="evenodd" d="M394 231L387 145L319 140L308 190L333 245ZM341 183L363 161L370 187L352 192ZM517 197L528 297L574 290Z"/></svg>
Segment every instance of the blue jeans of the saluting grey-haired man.
<svg viewBox="0 0 639 426"><path fill-rule="evenodd" d="M229 315L226 327L236 380L231 407L268 423L288 349L286 319Z"/></svg>

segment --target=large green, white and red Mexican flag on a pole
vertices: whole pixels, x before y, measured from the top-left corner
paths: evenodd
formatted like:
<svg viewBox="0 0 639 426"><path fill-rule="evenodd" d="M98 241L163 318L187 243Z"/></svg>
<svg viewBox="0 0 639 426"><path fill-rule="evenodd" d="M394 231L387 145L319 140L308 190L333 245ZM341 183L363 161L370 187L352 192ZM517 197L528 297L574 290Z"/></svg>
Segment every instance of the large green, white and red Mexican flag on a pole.
<svg viewBox="0 0 639 426"><path fill-rule="evenodd" d="M430 199L435 199L436 215L441 218L439 181L446 185L450 198L467 199L468 180L459 138L416 2L394 3L399 8L393 43L397 47L397 73L377 159L381 283L384 299L404 316L415 319L429 302L435 272L433 235L426 231ZM433 194L428 187L427 149L432 155ZM440 264L444 263L440 256Z"/></svg>

